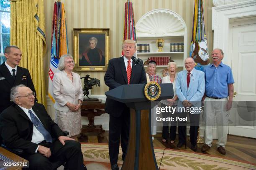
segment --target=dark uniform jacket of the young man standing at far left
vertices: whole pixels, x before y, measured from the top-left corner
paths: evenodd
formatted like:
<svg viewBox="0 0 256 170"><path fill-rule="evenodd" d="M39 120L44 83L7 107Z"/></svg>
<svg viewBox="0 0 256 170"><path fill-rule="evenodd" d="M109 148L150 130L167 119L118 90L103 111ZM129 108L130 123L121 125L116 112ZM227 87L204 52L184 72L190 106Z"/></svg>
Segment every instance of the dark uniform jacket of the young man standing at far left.
<svg viewBox="0 0 256 170"><path fill-rule="evenodd" d="M5 63L0 65L0 113L13 103L10 102L10 89L20 84L26 85L33 92L36 92L28 69L17 66L16 79L14 81Z"/></svg>

